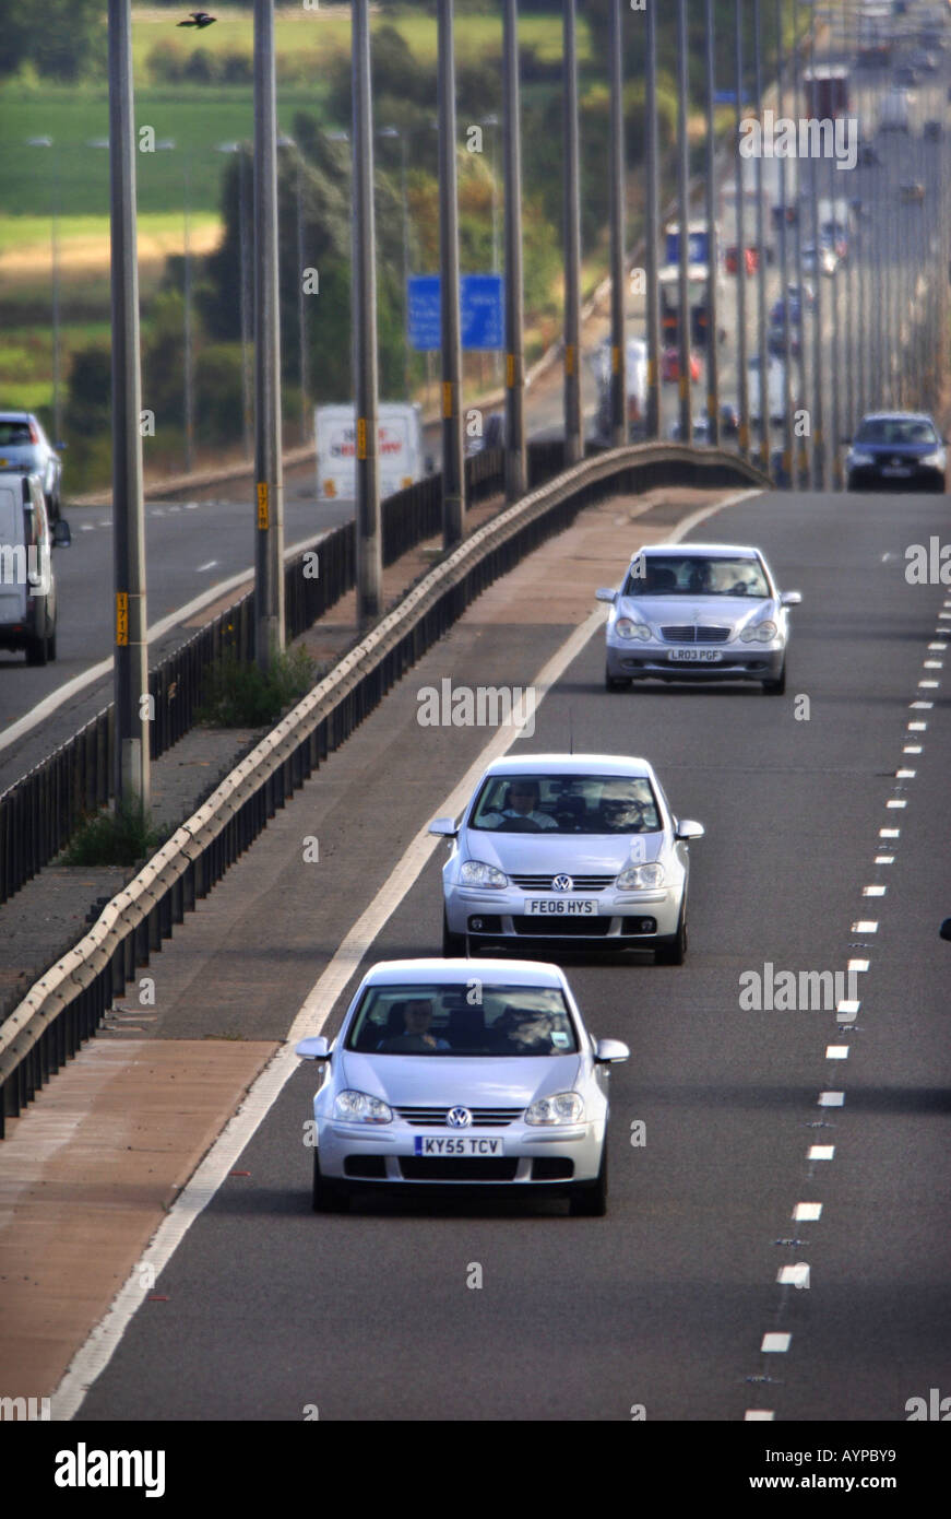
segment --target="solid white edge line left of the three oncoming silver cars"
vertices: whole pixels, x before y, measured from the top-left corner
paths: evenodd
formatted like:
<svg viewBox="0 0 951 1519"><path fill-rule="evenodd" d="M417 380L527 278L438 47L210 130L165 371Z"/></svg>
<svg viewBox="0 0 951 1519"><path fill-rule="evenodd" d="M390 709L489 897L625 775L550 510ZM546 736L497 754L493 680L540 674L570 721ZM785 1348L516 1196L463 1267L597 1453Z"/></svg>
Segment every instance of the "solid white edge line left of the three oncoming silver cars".
<svg viewBox="0 0 951 1519"><path fill-rule="evenodd" d="M686 533L692 532L705 518L713 516L714 512L722 512L737 501L745 501L751 495L760 494L760 491L742 491L737 495L717 501L714 506L702 507L699 512L693 512L684 518L666 541L680 542ZM578 658L593 633L604 626L607 615L607 608L599 606L541 667L532 681L537 693L535 708L545 700L548 691L572 661ZM458 785L454 787L446 801L437 808L434 817L449 814L457 817L472 796L473 787L479 781L485 766L504 755L519 737L520 729L517 728L499 728ZM241 1151L264 1123L285 1083L300 1068L300 1062L294 1054L294 1045L309 1034L320 1033L337 998L356 972L376 936L432 858L438 845L440 840L435 835L426 832L417 834L384 889L378 892L370 907L356 919L334 954L334 958L308 992L288 1030L285 1044L252 1083L247 1097L214 1141L191 1180L179 1192L168 1215L158 1226L143 1250L141 1259L147 1259L155 1267L156 1279L188 1233L191 1224L212 1200ZM143 1303L147 1291L152 1291L152 1288L141 1287L141 1273L137 1264L129 1273L124 1287L115 1296L109 1311L100 1318L85 1344L73 1356L59 1387L53 1393L50 1402L56 1420L71 1419L77 1413L89 1387L112 1360L129 1320Z"/></svg>

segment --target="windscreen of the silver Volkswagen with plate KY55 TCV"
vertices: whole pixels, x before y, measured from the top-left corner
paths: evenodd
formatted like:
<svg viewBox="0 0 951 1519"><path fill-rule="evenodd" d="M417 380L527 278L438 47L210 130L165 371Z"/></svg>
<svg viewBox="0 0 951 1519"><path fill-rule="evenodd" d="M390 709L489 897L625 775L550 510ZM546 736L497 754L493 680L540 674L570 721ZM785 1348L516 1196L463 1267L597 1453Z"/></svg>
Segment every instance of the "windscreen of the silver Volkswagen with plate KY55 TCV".
<svg viewBox="0 0 951 1519"><path fill-rule="evenodd" d="M457 984L369 986L346 1050L363 1054L576 1054L578 1034L558 987L510 986L472 975Z"/></svg>

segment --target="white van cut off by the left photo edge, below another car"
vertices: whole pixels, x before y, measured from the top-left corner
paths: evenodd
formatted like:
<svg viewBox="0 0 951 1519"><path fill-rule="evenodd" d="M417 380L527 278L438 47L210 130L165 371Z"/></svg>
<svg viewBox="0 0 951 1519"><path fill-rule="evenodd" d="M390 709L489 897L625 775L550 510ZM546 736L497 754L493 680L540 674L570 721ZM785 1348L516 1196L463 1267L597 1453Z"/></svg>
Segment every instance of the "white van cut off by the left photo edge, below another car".
<svg viewBox="0 0 951 1519"><path fill-rule="evenodd" d="M52 550L70 542L62 518L50 532L39 475L0 474L0 649L24 649L27 664L56 658Z"/></svg>

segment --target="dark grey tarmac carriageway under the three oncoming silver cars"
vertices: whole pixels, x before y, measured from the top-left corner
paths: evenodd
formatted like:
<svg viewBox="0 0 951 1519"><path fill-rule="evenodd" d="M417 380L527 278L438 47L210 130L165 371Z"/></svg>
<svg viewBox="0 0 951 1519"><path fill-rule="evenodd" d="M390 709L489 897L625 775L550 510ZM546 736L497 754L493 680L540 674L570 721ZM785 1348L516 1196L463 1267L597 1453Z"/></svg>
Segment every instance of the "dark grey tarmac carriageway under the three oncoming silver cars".
<svg viewBox="0 0 951 1519"><path fill-rule="evenodd" d="M777 1419L895 1420L910 1396L946 1387L951 1060L936 937L948 911L936 851L949 822L946 697L921 717L909 711L945 592L902 574L904 547L940 532L945 503L790 504L764 497L695 533L761 544L781 583L802 589L784 699L737 688L608 696L598 635L541 705L531 740L537 752L561 747L570 722L576 750L646 753L675 810L708 831L692 851L686 966L569 968L595 1031L632 1050L613 1075L608 1218L570 1220L555 1202L391 1197L315 1218L300 1144L312 1072L302 1069L235 1167L250 1177L228 1180L187 1235L158 1284L168 1302L137 1314L80 1419L299 1419L306 1404L322 1419L628 1419L643 1404L648 1419L772 1408ZM322 898L331 916L341 899L355 916L469 763L472 734L416 728L416 691L441 673L525 681L541 653L535 629L470 620L367 720L335 756L346 764L356 746L349 788L340 764L331 776L337 820L350 828L328 840L334 884L320 896L299 866L311 808L288 807L284 864L265 867L262 854L255 870L256 943L250 913L241 925L244 952L273 978L264 995L264 974L249 986L237 1010L247 1027L273 1027L282 1004L293 1015L288 983L306 969L293 948L300 924L320 945L315 975L329 948ZM796 694L811 700L808 722L795 720ZM877 878L909 720L928 722L924 753L887 898L869 907L862 887ZM419 781L400 790L414 758ZM866 916L881 919L880 934L849 948L860 937L851 924ZM438 921L437 857L372 958L434 949ZM866 954L871 969L848 1068L825 1059L828 1041L845 1037L833 1012L739 1007L743 971L836 971L849 954ZM214 1001L214 983L206 990ZM200 978L191 992L197 1033ZM833 1112L818 1107L831 1086L846 1091ZM646 1123L643 1148L626 1142L634 1120ZM807 1162L816 1142L834 1144L836 1159ZM822 1218L793 1224L798 1202L822 1202ZM802 1244L775 1244L787 1236ZM810 1264L808 1291L777 1285L790 1261ZM466 1287L472 1262L481 1291ZM786 1355L760 1353L771 1331L792 1332ZM748 1381L764 1373L777 1381Z"/></svg>

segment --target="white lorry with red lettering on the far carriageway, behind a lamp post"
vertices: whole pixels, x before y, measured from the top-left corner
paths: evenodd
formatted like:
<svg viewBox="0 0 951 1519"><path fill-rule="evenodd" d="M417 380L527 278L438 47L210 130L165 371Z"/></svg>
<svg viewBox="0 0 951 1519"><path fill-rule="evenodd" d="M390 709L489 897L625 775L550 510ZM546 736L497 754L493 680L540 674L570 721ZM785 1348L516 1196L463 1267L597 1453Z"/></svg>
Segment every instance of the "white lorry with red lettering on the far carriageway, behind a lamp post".
<svg viewBox="0 0 951 1519"><path fill-rule="evenodd" d="M317 500L352 500L356 495L356 407L319 406ZM419 404L381 401L376 409L376 459L381 500L414 485L425 474L423 428Z"/></svg>

